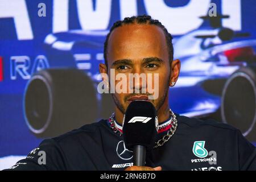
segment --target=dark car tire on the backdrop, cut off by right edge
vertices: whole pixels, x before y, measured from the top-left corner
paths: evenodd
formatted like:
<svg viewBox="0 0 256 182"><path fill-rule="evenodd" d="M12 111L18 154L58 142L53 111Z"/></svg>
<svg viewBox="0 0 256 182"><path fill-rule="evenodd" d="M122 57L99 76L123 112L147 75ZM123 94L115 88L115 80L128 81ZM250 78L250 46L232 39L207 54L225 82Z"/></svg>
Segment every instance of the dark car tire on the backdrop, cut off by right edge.
<svg viewBox="0 0 256 182"><path fill-rule="evenodd" d="M221 119L239 129L249 140L256 139L256 74L242 67L226 81L221 97Z"/></svg>

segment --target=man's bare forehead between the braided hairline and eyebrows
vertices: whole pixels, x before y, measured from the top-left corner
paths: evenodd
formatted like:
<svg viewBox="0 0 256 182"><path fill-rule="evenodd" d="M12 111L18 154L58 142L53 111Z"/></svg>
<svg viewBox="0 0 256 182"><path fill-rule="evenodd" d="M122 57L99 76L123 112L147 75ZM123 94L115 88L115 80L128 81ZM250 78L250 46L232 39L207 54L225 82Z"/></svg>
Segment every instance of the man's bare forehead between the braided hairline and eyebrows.
<svg viewBox="0 0 256 182"><path fill-rule="evenodd" d="M124 24L112 31L108 42L109 60L161 57L168 55L162 28L152 24ZM161 56L162 55L162 56Z"/></svg>

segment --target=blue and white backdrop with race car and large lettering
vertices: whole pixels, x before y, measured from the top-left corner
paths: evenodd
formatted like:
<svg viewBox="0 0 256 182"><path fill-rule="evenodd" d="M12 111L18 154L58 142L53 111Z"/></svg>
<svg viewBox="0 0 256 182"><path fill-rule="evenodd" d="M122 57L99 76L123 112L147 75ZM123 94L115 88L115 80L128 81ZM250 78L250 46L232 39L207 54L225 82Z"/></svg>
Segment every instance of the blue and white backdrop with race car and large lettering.
<svg viewBox="0 0 256 182"><path fill-rule="evenodd" d="M97 93L116 20L151 15L174 36L181 73L170 105L256 141L254 0L0 0L0 169L44 138L107 118ZM255 144L255 143L254 143Z"/></svg>

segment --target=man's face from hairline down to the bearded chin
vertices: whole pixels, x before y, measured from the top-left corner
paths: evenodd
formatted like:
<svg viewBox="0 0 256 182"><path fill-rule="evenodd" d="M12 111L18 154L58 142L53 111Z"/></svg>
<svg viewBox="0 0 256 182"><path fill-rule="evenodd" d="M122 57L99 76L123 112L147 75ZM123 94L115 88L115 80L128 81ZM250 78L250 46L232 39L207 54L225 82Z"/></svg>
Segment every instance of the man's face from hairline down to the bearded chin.
<svg viewBox="0 0 256 182"><path fill-rule="evenodd" d="M166 37L163 30L150 24L125 24L115 28L109 37L108 48L108 76L110 69L115 70L115 75L124 73L127 78L129 73L152 73L152 85L158 81L159 96L155 100L149 100L158 110L163 104L168 103L168 89L170 85L171 66L168 55ZM159 79L154 79L154 73L159 74ZM134 80L135 81L135 80ZM119 81L115 81L115 85ZM129 79L127 79L127 85ZM142 82L135 82L135 86L142 90ZM115 105L124 114L128 105L133 100L147 100L152 93L114 93L112 97Z"/></svg>

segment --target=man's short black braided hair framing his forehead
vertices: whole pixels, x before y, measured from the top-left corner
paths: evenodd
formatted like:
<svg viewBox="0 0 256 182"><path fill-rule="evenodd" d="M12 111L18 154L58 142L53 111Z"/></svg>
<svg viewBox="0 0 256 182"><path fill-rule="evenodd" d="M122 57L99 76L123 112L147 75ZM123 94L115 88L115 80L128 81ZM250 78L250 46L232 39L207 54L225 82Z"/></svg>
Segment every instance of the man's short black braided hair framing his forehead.
<svg viewBox="0 0 256 182"><path fill-rule="evenodd" d="M133 24L133 23L137 23L137 24L154 24L160 28L162 28L162 30L164 31L164 35L166 36L166 43L168 46L168 54L169 54L169 60L172 61L174 59L174 46L172 45L172 35L167 31L166 27L163 26L163 24L161 22L159 22L159 20L157 19L152 19L151 16L149 15L139 15L139 16L131 16L131 17L127 17L125 19L118 20L117 22L115 22L113 24L113 26L110 28L110 31L108 33L108 35L106 36L106 40L104 43L104 59L105 59L105 64L108 67L108 59L106 56L106 50L108 48L108 41L109 41L109 36L112 33L112 31L117 28L117 27L121 27L123 24Z"/></svg>

